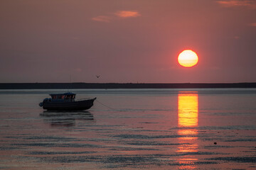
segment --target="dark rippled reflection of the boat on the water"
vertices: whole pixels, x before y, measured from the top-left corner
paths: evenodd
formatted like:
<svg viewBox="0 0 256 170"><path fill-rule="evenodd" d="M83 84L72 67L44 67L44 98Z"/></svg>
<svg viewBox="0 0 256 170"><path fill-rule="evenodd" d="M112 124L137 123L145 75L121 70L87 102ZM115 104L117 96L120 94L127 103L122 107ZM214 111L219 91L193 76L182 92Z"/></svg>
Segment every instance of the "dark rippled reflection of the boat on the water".
<svg viewBox="0 0 256 170"><path fill-rule="evenodd" d="M94 120L89 111L43 111L40 114L44 122L51 126L74 126L78 120Z"/></svg>

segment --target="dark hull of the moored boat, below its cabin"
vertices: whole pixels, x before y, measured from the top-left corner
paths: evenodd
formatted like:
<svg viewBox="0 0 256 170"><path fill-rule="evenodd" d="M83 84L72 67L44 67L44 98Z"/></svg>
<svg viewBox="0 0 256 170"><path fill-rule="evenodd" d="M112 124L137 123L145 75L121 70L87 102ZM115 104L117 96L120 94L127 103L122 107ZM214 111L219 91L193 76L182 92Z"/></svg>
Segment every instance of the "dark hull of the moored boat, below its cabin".
<svg viewBox="0 0 256 170"><path fill-rule="evenodd" d="M46 102L43 103L43 109L47 111L84 111L93 106L96 98L83 101L63 101L63 102Z"/></svg>

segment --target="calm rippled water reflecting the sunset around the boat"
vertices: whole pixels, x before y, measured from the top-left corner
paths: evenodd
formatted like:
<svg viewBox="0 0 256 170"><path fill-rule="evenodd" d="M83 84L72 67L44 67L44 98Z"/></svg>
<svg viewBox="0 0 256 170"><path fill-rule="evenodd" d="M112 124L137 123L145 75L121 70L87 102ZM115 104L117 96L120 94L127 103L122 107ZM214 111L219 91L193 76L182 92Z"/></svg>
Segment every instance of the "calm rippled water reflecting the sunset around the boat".
<svg viewBox="0 0 256 170"><path fill-rule="evenodd" d="M55 92L0 91L0 169L256 169L256 89L73 90L95 106L43 112Z"/></svg>

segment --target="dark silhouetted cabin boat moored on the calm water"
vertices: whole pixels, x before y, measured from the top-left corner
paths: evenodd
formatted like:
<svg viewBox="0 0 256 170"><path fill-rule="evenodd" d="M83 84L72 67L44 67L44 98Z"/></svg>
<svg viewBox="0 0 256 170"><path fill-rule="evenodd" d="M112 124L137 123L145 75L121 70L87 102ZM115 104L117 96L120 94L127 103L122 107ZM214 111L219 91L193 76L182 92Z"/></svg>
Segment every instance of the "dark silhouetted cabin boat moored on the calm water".
<svg viewBox="0 0 256 170"><path fill-rule="evenodd" d="M83 98L75 101L75 94L49 94L51 98L43 99L39 106L47 111L83 111L91 108L96 98Z"/></svg>

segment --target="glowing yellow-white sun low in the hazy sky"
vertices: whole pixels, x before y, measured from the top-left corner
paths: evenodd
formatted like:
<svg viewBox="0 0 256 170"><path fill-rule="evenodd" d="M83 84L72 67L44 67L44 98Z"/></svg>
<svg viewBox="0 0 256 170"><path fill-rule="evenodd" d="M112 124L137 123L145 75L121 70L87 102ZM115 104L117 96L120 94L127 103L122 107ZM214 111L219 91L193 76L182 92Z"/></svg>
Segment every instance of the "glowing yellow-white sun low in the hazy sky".
<svg viewBox="0 0 256 170"><path fill-rule="evenodd" d="M198 56L192 50L183 50L178 55L178 63L183 67L192 67L198 63Z"/></svg>

